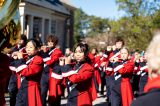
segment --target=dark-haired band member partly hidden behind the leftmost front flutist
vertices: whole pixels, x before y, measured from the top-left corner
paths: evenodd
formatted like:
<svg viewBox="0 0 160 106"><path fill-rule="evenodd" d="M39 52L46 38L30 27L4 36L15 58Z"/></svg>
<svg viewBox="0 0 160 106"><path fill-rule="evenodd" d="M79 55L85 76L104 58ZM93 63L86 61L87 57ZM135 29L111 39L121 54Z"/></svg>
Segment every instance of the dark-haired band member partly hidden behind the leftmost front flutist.
<svg viewBox="0 0 160 106"><path fill-rule="evenodd" d="M18 52L22 52L23 58L26 58L27 56L26 50L25 50L26 43L27 43L27 37L26 35L22 34L18 44L14 46L12 50L10 51L11 58L12 58L11 65L14 65L15 60L18 59L18 56L17 56ZM12 75L10 77L10 81L8 85L8 91L10 95L10 106L15 106L16 95L17 95L18 89L20 88L20 84L21 84L20 80L21 80L20 75L16 74L16 72L12 70Z"/></svg>

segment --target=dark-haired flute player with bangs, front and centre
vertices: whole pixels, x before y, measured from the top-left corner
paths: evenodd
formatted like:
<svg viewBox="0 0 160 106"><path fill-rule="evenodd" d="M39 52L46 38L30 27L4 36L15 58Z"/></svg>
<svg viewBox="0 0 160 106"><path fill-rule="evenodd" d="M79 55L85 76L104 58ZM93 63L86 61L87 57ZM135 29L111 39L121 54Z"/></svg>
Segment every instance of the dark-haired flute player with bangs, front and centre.
<svg viewBox="0 0 160 106"><path fill-rule="evenodd" d="M65 78L68 90L67 106L92 106L96 99L96 89L93 82L94 69L88 63L88 46L79 43L74 51L76 64L70 64L71 57L60 61L62 76Z"/></svg>

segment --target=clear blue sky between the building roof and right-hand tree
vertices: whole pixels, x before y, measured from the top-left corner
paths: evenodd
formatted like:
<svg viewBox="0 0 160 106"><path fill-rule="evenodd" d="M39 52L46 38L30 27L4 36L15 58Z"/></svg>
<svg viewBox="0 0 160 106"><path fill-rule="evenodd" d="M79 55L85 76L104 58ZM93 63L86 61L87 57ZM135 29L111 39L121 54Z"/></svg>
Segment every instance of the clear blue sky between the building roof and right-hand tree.
<svg viewBox="0 0 160 106"><path fill-rule="evenodd" d="M101 18L119 19L124 15L123 11L118 11L115 0L70 0L77 8L88 15L95 15Z"/></svg>

